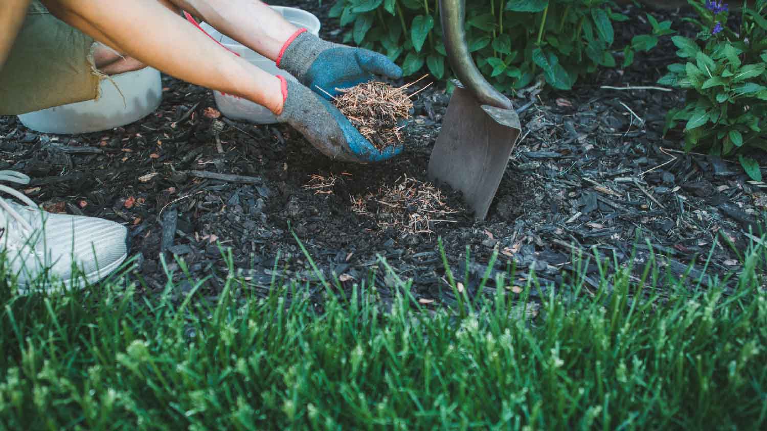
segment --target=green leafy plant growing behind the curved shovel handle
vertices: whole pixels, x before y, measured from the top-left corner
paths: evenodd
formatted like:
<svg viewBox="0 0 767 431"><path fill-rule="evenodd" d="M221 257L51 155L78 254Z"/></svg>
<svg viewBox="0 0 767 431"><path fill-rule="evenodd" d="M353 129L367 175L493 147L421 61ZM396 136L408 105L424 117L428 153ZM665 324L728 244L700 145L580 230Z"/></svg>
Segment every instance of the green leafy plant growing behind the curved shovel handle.
<svg viewBox="0 0 767 431"><path fill-rule="evenodd" d="M449 76L439 26L437 0L338 0L331 8L345 43L381 51L403 67L405 75L424 65L437 79ZM542 76L551 87L568 90L597 67L614 67L615 21L627 17L608 0L467 0L466 38L477 66L499 90L519 89ZM648 50L669 31L653 20L653 34L634 38ZM653 39L654 38L654 39Z"/></svg>

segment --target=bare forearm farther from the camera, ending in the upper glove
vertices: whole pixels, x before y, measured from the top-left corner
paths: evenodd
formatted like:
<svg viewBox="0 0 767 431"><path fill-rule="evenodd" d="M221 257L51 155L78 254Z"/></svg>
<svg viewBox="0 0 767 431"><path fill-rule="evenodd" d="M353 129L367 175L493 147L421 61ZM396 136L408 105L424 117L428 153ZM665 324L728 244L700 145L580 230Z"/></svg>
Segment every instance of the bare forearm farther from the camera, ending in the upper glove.
<svg viewBox="0 0 767 431"><path fill-rule="evenodd" d="M168 0L270 60L298 28L259 0Z"/></svg>

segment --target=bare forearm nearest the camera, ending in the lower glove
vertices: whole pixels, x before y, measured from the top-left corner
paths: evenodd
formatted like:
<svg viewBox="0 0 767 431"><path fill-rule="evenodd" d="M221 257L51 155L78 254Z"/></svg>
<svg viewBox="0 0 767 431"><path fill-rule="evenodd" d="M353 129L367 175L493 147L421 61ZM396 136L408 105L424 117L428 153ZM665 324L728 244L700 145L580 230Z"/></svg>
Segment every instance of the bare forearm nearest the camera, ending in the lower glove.
<svg viewBox="0 0 767 431"><path fill-rule="evenodd" d="M49 0L47 4L67 24L151 67L281 113L277 77L226 51L157 0Z"/></svg>

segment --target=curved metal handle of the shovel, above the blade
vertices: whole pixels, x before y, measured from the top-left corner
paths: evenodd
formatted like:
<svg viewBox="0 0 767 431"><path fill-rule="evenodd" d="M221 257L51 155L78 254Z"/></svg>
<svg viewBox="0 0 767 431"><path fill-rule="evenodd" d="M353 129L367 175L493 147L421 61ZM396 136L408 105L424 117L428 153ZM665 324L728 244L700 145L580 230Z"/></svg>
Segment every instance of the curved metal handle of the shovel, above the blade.
<svg viewBox="0 0 767 431"><path fill-rule="evenodd" d="M484 105L512 109L508 97L495 90L477 69L469 46L463 21L466 18L466 0L439 0L439 20L442 24L447 60L464 87Z"/></svg>

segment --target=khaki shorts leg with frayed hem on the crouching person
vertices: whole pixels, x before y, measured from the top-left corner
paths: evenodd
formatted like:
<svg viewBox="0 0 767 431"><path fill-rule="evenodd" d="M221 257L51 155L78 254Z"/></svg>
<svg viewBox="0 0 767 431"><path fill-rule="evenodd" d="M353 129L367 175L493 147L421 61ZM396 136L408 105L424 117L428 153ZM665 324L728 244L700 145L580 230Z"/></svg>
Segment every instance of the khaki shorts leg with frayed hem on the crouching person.
<svg viewBox="0 0 767 431"><path fill-rule="evenodd" d="M94 40L33 0L5 67L0 69L0 115L18 115L92 100L99 81Z"/></svg>

